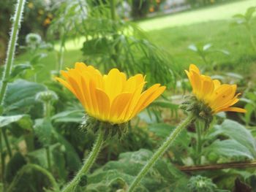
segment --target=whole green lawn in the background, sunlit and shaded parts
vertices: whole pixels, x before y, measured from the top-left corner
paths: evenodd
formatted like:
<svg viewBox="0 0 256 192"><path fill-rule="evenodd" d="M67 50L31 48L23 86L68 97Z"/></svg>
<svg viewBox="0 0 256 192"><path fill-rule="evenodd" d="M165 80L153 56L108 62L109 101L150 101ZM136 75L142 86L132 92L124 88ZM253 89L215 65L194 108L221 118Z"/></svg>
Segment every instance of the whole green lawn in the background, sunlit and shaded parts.
<svg viewBox="0 0 256 192"><path fill-rule="evenodd" d="M244 13L248 7L253 5L256 5L255 0L235 1L143 20L138 22L138 25L148 32L148 37L155 44L164 47L170 53L170 59L181 66L181 69L190 63L203 64L200 57L187 48L189 45L211 43L214 49L230 52L228 56L211 53L208 55L208 61L212 64L219 64L222 69L236 69L238 72L253 74L255 71L251 66L256 65L256 53L250 44L249 35L243 26L230 26L232 15ZM254 31L256 37L256 19L254 20ZM83 39L67 42L64 66L72 66L75 61L83 61L80 51L82 45ZM58 46L56 50L58 50ZM48 57L42 59L42 64L48 70L56 69L56 52L48 54ZM16 62L26 61L28 56L28 54L20 55ZM39 81L48 78L48 70L44 68L39 73Z"/></svg>

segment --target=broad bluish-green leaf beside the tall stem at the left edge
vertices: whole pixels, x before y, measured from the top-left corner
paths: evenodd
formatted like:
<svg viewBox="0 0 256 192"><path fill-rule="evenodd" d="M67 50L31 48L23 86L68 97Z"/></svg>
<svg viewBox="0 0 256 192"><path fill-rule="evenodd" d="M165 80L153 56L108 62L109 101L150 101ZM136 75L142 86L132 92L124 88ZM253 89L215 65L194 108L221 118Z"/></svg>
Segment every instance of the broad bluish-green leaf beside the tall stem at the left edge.
<svg viewBox="0 0 256 192"><path fill-rule="evenodd" d="M8 84L7 94L4 99L5 113L23 113L36 104L35 95L39 91L45 91L44 85L26 80L16 80Z"/></svg>

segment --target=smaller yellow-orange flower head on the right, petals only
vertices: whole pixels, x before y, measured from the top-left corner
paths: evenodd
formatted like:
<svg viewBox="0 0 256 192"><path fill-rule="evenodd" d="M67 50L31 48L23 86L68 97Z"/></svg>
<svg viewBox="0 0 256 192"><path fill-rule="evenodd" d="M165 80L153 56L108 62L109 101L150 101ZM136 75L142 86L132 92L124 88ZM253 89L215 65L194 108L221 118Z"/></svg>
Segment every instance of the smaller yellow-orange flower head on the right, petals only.
<svg viewBox="0 0 256 192"><path fill-rule="evenodd" d="M185 72L192 85L193 94L211 108L212 114L225 111L246 112L239 107L231 107L239 101L238 96L241 95L241 93L236 94L236 85L221 85L219 80L211 80L211 77L200 74L194 64L189 66L189 72L187 70Z"/></svg>

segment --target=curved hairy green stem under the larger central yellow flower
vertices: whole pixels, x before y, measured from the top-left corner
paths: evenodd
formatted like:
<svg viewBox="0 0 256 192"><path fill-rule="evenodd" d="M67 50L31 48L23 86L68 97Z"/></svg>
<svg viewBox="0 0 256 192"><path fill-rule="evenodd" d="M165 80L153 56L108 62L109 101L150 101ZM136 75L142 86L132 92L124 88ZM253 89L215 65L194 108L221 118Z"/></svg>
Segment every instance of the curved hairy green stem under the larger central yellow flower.
<svg viewBox="0 0 256 192"><path fill-rule="evenodd" d="M103 137L104 137L104 133L100 128L98 136L97 136L97 140L94 142L94 147L92 148L91 153L89 154L89 157L86 158L86 160L84 161L84 164L83 164L82 168L79 170L78 174L75 175L73 180L62 190L62 192L71 192L71 191L74 192L75 191L75 188L80 183L80 178L84 174L89 172L89 169L91 168L92 164L94 164L94 161L96 160L97 155L99 154L99 151L102 147Z"/></svg>

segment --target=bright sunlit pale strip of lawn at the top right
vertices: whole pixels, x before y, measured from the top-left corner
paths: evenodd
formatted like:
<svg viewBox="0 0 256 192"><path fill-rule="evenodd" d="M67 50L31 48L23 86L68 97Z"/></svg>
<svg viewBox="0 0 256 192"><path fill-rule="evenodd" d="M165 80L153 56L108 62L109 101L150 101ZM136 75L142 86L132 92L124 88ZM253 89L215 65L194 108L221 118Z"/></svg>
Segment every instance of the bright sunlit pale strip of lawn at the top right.
<svg viewBox="0 0 256 192"><path fill-rule="evenodd" d="M237 13L244 13L248 7L256 6L255 0L229 1L211 7L178 12L161 18L153 18L138 22L145 31L159 30L176 26L188 26L214 20L229 20Z"/></svg>

